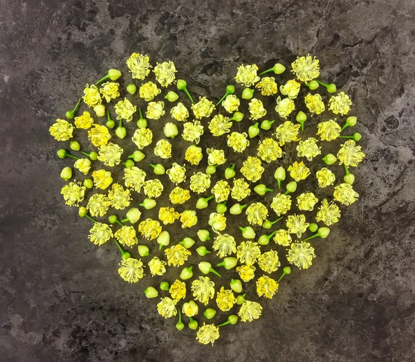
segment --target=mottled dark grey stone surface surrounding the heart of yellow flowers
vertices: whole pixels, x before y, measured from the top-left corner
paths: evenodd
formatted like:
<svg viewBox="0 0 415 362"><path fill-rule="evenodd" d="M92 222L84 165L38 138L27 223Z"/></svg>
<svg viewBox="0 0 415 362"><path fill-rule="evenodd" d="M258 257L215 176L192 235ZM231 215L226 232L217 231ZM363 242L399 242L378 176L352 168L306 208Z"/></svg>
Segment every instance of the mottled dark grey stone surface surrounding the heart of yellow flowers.
<svg viewBox="0 0 415 362"><path fill-rule="evenodd" d="M1 361L415 360L413 1L0 3ZM360 201L315 242L315 265L214 347L120 280L113 245L89 243L59 194L49 125L133 51L174 60L212 98L241 62L313 53L360 120Z"/></svg>

